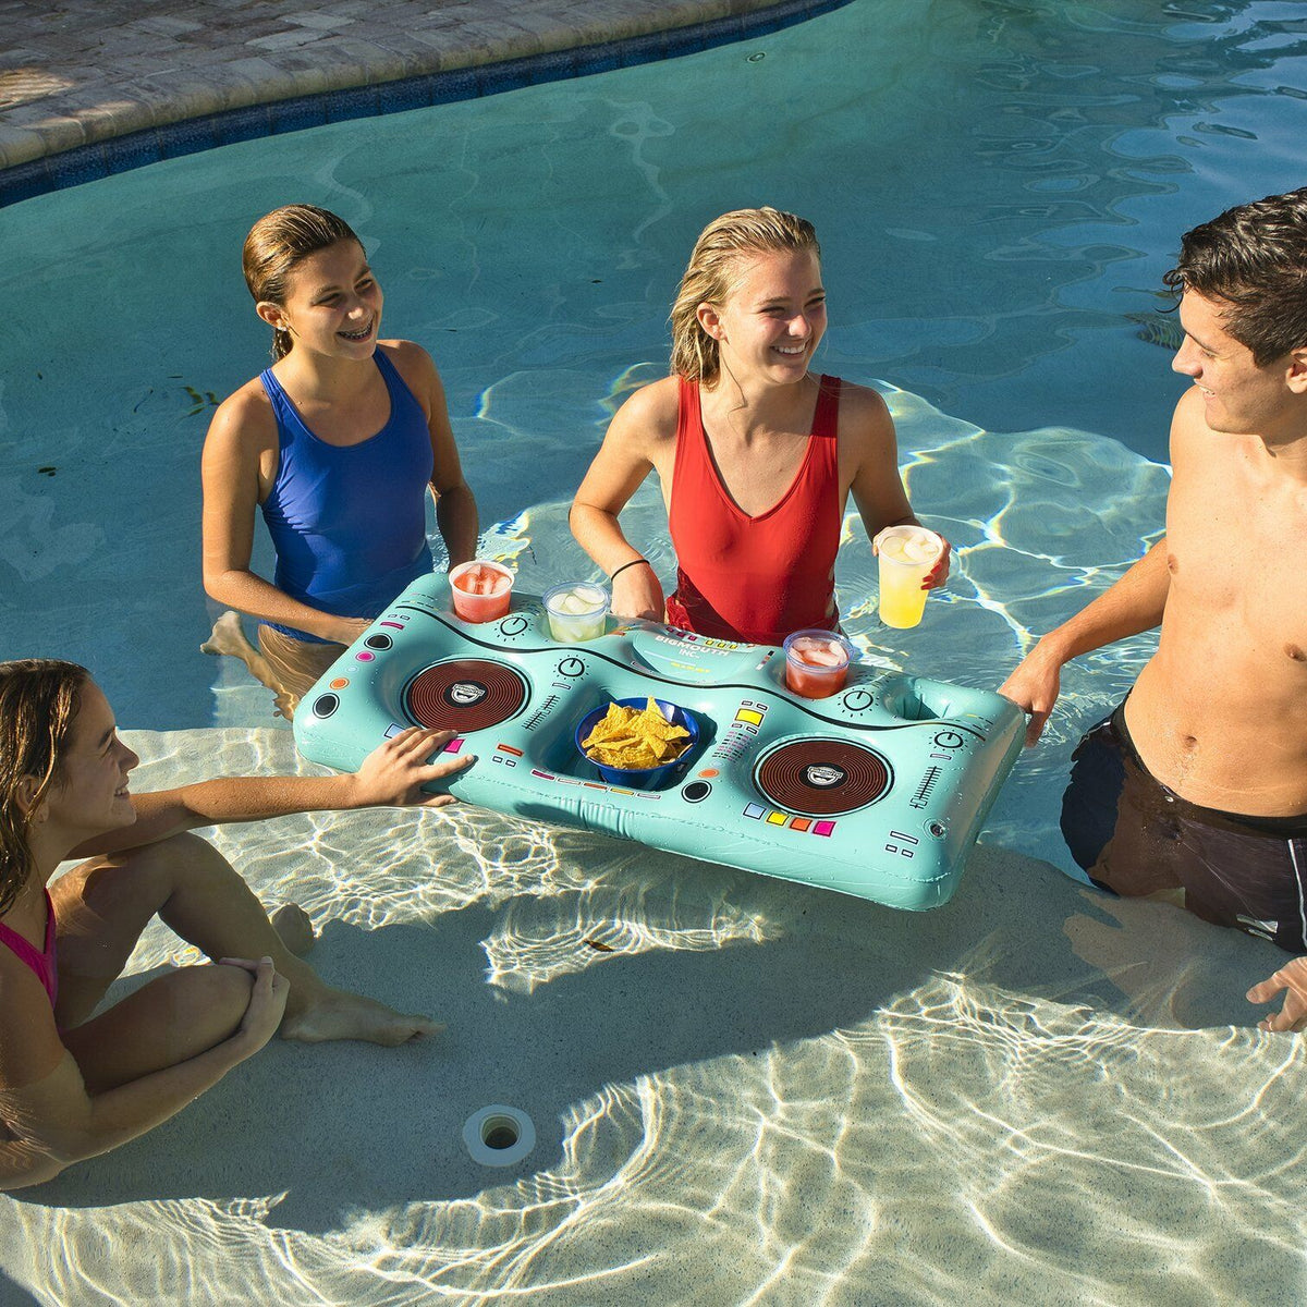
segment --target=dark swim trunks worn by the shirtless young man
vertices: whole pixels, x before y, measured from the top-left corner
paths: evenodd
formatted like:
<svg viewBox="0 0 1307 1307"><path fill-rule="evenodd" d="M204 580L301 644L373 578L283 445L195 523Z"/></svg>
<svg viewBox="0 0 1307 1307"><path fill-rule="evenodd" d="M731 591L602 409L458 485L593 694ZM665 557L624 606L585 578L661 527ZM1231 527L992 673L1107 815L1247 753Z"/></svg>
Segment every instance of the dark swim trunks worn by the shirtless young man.
<svg viewBox="0 0 1307 1307"><path fill-rule="evenodd" d="M1124 703L1076 746L1061 829L1100 889L1180 889L1205 921L1307 953L1307 816L1246 817L1182 799L1145 770Z"/></svg>

